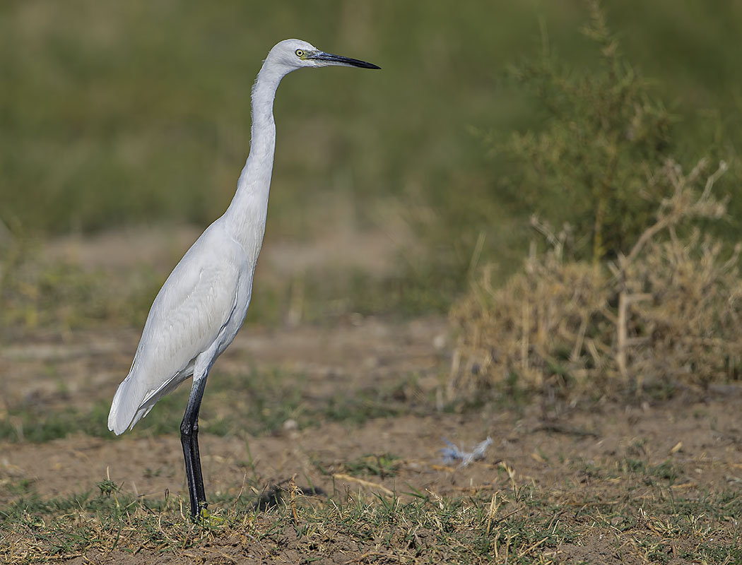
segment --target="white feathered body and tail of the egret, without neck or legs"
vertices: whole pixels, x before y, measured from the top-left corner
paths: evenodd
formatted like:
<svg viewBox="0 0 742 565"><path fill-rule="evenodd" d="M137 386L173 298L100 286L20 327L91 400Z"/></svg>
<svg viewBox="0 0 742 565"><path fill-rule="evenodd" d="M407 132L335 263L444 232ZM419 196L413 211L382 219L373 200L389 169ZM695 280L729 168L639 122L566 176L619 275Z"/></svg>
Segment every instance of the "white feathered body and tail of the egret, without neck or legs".
<svg viewBox="0 0 742 565"><path fill-rule="evenodd" d="M108 428L116 434L223 353L242 326L252 293L257 253L250 256L214 222L165 281L142 331L128 377L116 391Z"/></svg>

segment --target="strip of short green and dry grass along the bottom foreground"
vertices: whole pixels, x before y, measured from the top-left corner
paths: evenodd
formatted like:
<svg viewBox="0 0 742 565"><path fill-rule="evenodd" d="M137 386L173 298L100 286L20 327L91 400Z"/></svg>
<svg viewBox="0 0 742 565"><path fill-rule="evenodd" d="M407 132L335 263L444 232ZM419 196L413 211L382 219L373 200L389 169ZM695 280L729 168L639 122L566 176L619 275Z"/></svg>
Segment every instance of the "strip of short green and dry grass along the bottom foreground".
<svg viewBox="0 0 742 565"><path fill-rule="evenodd" d="M213 500L211 517L194 524L183 516L179 498L134 498L107 481L98 490L48 500L31 493L1 509L6 535L0 538L0 557L8 564L30 564L82 555L94 561L102 555L222 551L230 559L283 555L300 563L346 555L376 563L393 558L413 564L530 564L580 555L581 546L603 540L603 554L592 559L742 559L734 518L742 498L735 492L683 498L656 489L649 497L605 503L589 493L573 501L513 483L494 496L346 492L329 500L288 486L259 512L258 495ZM191 554L184 553L189 549Z"/></svg>

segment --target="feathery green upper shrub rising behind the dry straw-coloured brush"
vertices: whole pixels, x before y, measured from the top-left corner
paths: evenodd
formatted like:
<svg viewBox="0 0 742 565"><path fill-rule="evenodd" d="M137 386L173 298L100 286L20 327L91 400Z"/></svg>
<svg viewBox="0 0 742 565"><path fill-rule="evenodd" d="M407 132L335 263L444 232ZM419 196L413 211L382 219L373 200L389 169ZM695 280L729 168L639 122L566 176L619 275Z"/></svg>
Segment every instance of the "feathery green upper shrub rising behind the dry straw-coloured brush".
<svg viewBox="0 0 742 565"><path fill-rule="evenodd" d="M571 72L545 53L513 74L535 90L545 112L538 133L513 133L499 151L515 171L511 196L539 215L568 221L591 245L578 250L601 260L626 253L665 194L647 176L671 156L673 119L650 83L623 59L597 3L584 33L598 65Z"/></svg>

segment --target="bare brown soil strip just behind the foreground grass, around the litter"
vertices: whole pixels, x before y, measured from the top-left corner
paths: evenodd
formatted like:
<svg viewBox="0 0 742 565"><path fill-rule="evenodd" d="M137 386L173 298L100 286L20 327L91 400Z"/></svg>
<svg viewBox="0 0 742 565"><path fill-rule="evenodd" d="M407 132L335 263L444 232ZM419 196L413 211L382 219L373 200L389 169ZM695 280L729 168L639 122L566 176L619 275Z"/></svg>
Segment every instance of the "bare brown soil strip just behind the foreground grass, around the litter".
<svg viewBox="0 0 742 565"><path fill-rule="evenodd" d="M200 439L209 490L217 493L236 494L243 475L252 472L246 443L255 470L266 483L280 483L297 474L325 492L332 492L332 478L321 474L312 460L333 469L369 453L385 452L403 461L401 473L378 480L396 492L414 486L420 492L427 489L450 496L487 485L502 486L501 461L516 469L520 481L539 487L565 489L572 483L589 488L585 465L611 467L623 457L646 458L648 465L672 460L680 469L676 484L686 492L700 492L742 480L742 434L738 418L732 415L741 404L717 400L649 410L614 407L601 414L573 414L558 425L545 425L536 414L516 416L508 411L487 417L408 415L370 420L359 427L323 423L278 436L202 433ZM494 443L485 460L467 467L442 462L441 437L473 446L487 436ZM118 441L79 436L43 444L6 443L0 444L0 452L2 475L33 479L43 497L90 489L107 473L139 495L162 498L165 490L185 495L183 454L175 434ZM357 483L349 486L358 488ZM575 494L578 499L585 496Z"/></svg>

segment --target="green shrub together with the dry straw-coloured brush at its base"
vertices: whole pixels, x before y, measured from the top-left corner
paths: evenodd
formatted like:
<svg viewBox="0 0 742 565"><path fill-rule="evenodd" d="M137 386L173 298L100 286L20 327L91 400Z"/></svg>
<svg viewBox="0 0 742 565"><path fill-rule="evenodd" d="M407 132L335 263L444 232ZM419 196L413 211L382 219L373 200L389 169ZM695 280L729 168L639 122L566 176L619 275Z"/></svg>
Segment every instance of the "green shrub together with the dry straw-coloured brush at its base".
<svg viewBox="0 0 742 565"><path fill-rule="evenodd" d="M485 268L452 309L460 328L452 397L516 381L548 391L669 390L735 379L742 368L741 245L698 227L726 213L712 193L726 164L709 171L702 159L683 172L669 157L669 116L592 6L587 33L603 70L530 67L522 77L536 80L552 119L508 147L521 160L522 197L565 227L532 217L547 250L531 245L501 287ZM539 198L562 204L544 211Z"/></svg>

